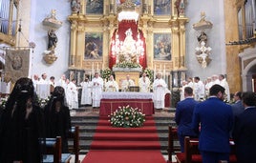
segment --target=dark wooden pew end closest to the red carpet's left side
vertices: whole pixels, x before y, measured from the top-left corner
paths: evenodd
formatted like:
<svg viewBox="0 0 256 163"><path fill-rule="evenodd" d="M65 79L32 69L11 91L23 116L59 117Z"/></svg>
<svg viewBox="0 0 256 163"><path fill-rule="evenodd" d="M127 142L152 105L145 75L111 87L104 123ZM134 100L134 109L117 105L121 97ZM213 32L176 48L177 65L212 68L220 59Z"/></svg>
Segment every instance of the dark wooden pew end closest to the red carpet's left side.
<svg viewBox="0 0 256 163"><path fill-rule="evenodd" d="M72 127L69 131L69 139L73 139L73 147L69 148L69 152L75 154L75 163L79 163L79 126Z"/></svg>

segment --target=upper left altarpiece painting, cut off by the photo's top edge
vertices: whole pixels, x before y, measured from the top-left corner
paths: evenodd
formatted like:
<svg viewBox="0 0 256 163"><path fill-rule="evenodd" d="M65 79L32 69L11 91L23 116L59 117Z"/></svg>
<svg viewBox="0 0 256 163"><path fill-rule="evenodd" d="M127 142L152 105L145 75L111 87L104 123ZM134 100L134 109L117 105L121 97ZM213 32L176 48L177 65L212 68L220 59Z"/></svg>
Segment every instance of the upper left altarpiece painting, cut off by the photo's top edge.
<svg viewBox="0 0 256 163"><path fill-rule="evenodd" d="M102 0L86 0L86 14L103 14Z"/></svg>

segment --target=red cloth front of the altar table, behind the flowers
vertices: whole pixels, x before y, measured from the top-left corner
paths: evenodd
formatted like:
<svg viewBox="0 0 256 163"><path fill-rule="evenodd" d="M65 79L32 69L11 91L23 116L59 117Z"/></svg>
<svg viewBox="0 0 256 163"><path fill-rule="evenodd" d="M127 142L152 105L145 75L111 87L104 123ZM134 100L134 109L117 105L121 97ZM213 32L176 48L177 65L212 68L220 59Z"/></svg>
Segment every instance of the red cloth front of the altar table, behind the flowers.
<svg viewBox="0 0 256 163"><path fill-rule="evenodd" d="M140 109L145 115L154 114L154 103L152 99L101 99L99 115L107 116L118 110L118 107L129 105Z"/></svg>

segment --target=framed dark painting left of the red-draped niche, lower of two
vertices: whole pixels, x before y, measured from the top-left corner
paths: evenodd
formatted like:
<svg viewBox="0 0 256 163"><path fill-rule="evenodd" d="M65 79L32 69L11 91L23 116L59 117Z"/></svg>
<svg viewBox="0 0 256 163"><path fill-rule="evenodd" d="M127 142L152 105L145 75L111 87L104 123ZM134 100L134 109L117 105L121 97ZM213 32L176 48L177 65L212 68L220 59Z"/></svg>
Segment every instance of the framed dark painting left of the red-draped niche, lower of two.
<svg viewBox="0 0 256 163"><path fill-rule="evenodd" d="M101 59L102 44L103 44L102 32L86 32L84 59Z"/></svg>

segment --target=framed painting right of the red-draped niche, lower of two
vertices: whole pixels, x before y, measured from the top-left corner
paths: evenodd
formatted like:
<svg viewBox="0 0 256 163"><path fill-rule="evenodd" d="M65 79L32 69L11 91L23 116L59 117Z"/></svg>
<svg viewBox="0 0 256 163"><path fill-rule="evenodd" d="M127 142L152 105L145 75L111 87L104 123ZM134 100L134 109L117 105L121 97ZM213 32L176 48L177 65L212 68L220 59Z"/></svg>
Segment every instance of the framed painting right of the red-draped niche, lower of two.
<svg viewBox="0 0 256 163"><path fill-rule="evenodd" d="M154 33L154 59L171 60L171 33Z"/></svg>

